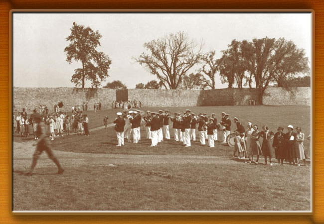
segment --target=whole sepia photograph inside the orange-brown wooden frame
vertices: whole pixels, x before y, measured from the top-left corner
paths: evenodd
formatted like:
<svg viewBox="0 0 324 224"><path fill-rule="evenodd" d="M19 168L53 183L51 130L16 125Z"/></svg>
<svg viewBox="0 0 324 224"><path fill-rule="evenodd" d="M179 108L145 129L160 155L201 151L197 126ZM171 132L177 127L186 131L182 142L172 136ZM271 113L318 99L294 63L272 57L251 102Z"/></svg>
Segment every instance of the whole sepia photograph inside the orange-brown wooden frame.
<svg viewBox="0 0 324 224"><path fill-rule="evenodd" d="M11 11L13 213L311 213L313 13Z"/></svg>

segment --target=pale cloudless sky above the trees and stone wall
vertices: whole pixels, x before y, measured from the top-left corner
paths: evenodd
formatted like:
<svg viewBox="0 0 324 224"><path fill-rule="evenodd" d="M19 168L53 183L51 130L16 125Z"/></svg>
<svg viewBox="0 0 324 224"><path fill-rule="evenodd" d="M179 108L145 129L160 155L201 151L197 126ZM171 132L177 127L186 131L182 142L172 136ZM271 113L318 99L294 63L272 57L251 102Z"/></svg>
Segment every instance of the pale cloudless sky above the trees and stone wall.
<svg viewBox="0 0 324 224"><path fill-rule="evenodd" d="M217 58L232 39L268 36L294 41L312 59L311 13L13 13L14 87L74 87L70 80L81 62L69 64L64 53L73 22L102 35L98 50L112 60L102 86L121 80L133 89L157 80L132 57L145 52L145 42L178 31L203 41L204 52L216 50ZM217 74L216 88L226 87Z"/></svg>

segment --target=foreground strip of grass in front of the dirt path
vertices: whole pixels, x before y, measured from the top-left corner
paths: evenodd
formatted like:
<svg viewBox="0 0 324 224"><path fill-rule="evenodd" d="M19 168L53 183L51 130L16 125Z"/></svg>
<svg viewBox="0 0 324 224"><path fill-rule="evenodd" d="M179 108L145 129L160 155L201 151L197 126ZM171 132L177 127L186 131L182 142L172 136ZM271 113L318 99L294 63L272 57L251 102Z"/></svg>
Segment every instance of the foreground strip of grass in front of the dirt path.
<svg viewBox="0 0 324 224"><path fill-rule="evenodd" d="M238 163L88 166L68 169L63 176L14 174L14 210L309 210L309 173L310 167Z"/></svg>

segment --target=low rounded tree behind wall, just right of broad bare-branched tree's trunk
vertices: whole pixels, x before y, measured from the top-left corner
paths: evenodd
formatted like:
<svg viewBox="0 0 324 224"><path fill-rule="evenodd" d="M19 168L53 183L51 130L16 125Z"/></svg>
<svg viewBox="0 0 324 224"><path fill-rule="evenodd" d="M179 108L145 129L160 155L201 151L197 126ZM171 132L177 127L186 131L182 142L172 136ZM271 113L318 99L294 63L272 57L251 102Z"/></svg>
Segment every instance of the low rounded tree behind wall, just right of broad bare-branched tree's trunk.
<svg viewBox="0 0 324 224"><path fill-rule="evenodd" d="M183 89L186 90L204 90L211 86L208 80L200 73L191 73L188 76L184 76L182 85Z"/></svg>

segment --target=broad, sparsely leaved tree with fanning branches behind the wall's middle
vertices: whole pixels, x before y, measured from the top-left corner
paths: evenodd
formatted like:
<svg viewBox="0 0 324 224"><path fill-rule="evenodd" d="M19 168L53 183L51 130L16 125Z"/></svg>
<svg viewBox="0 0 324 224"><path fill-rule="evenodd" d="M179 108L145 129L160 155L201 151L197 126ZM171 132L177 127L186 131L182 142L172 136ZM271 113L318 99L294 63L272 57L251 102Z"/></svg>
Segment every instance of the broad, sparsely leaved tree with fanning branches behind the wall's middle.
<svg viewBox="0 0 324 224"><path fill-rule="evenodd" d="M183 32L144 44L149 53L142 53L136 62L156 75L165 89L176 89L189 69L201 60L201 45Z"/></svg>

